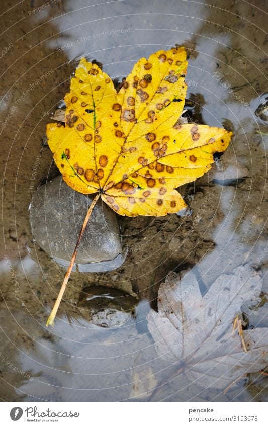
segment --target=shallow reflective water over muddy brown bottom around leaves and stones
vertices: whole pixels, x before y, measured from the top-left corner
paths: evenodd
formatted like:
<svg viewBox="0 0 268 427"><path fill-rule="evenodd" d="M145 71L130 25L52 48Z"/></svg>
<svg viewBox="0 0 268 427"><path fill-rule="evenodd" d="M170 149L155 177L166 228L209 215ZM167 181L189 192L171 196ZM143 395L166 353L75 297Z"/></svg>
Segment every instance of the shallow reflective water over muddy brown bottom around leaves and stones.
<svg viewBox="0 0 268 427"><path fill-rule="evenodd" d="M260 374L241 379L226 394L188 384L176 366L158 357L146 320L170 270L192 268L205 292L221 273L249 262L268 292L267 5L252 3L55 0L40 10L42 0L32 2L31 9L29 2L5 4L0 93L4 401L267 401L266 377ZM140 57L175 44L190 49L188 120L233 130L232 145L209 174L181 188L190 215L119 218L129 247L125 263L108 273L73 273L55 327L48 330L46 318L64 270L43 251L37 249L35 260L27 251L33 244L31 192L56 172L42 143L46 123L81 56L101 62L121 80ZM243 166L247 174L215 182L213 173L226 162ZM79 308L81 291L89 285L135 294L135 315L121 327L94 325ZM267 304L248 314L252 326L268 326Z"/></svg>

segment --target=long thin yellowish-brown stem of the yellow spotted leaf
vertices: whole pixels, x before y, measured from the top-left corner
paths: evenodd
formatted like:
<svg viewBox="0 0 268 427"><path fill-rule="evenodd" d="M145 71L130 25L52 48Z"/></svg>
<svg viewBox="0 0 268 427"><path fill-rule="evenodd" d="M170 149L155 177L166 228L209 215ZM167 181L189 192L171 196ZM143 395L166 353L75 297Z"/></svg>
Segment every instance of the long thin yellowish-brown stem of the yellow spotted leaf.
<svg viewBox="0 0 268 427"><path fill-rule="evenodd" d="M84 234L84 230L85 230L85 228L86 228L86 226L87 226L88 220L90 219L90 216L91 216L91 214L92 214L92 211L93 211L93 209L94 209L94 207L95 207L95 205L96 205L96 203L97 203L97 201L98 201L98 199L99 199L100 195L101 195L101 194L100 194L100 193L98 193L98 194L95 196L95 198L93 199L93 201L92 201L92 203L91 203L90 207L88 208L88 211L87 211L86 216L85 216L85 218L84 218L83 225L82 225L81 230L80 230L80 233L79 233L79 237L78 237L77 242L76 242L76 245L75 245L75 249L74 249L73 254L72 254L72 258L71 258L71 261L70 261L70 264L69 264L68 270L66 271L66 274L65 274L64 280L63 280L63 282L62 282L62 285L61 285L61 288L60 288L60 291L59 291L58 297L57 297L57 299L56 299L56 302L55 302L55 304L54 304L54 307L53 307L53 309L52 309L52 311L51 311L51 314L50 314L49 318L47 319L47 323L46 323L46 326L47 326L47 327L48 327L48 326L54 326L54 319L55 319L55 317L56 317L56 314L57 314L57 311L58 311L58 308L59 308L60 302L61 302L61 300L62 300L62 297L63 297L64 291L65 291L65 289L66 289L66 286L67 286L67 283L68 283L68 280L69 280L69 277L70 277L70 274L71 274L71 271L72 271L72 268L73 268L73 264L74 264L75 259L76 259L76 255L77 255L77 252L78 252L78 248L79 248L79 246L80 246L80 243L81 243L81 240L82 240L82 237L83 237L83 234Z"/></svg>

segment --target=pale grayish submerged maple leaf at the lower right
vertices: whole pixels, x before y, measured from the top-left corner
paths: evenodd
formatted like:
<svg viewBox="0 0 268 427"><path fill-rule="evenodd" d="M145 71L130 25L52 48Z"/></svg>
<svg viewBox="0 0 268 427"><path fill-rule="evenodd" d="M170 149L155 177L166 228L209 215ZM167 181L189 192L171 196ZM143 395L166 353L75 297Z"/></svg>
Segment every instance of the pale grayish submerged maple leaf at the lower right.
<svg viewBox="0 0 268 427"><path fill-rule="evenodd" d="M242 304L261 292L261 278L249 264L222 274L202 297L196 276L170 273L158 291L158 313L148 327L160 356L177 364L201 388L225 389L246 373L268 365L268 328L233 331ZM232 333L233 332L233 333Z"/></svg>

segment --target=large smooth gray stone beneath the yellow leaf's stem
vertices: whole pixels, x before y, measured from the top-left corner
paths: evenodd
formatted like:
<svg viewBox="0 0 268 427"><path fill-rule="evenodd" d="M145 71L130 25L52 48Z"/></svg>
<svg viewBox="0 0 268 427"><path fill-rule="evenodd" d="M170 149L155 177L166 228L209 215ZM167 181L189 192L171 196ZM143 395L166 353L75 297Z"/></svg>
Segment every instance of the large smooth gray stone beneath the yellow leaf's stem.
<svg viewBox="0 0 268 427"><path fill-rule="evenodd" d="M30 205L30 222L37 244L55 261L71 259L88 206L95 195L84 195L72 190L57 176L42 185L34 194ZM121 236L116 214L99 200L88 221L78 249L76 264L85 265L105 261L94 266L94 271L111 270L124 261L121 254ZM63 262L62 262L63 261ZM66 263L67 265L67 263ZM85 269L84 271L91 271Z"/></svg>

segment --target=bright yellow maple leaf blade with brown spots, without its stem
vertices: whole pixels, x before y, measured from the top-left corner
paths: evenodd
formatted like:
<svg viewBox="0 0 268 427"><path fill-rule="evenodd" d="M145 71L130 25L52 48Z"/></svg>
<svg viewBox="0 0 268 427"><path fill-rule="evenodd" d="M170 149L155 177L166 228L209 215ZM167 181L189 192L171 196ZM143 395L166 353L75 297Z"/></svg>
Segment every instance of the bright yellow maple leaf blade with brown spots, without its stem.
<svg viewBox="0 0 268 427"><path fill-rule="evenodd" d="M65 126L47 125L64 181L81 193L99 193L120 215L162 216L184 208L174 189L207 172L232 135L177 124L186 70L183 47L160 50L140 59L117 93L106 73L81 58L65 95Z"/></svg>

